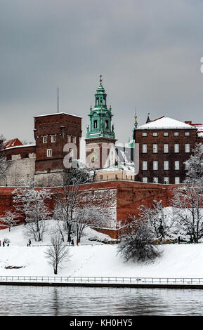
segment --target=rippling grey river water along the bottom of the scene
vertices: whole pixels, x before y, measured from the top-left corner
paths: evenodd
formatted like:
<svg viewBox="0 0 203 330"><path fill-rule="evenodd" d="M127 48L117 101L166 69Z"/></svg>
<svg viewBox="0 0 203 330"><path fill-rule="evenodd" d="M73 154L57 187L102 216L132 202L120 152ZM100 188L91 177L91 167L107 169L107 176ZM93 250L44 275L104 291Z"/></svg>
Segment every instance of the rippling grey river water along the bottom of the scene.
<svg viewBox="0 0 203 330"><path fill-rule="evenodd" d="M0 316L203 315L192 289L0 286Z"/></svg>

